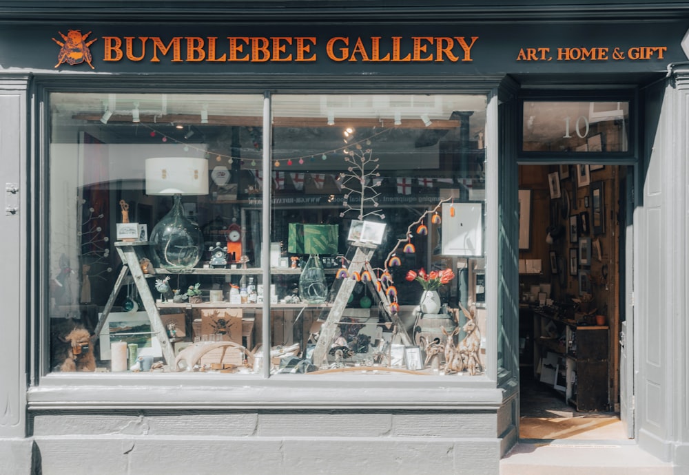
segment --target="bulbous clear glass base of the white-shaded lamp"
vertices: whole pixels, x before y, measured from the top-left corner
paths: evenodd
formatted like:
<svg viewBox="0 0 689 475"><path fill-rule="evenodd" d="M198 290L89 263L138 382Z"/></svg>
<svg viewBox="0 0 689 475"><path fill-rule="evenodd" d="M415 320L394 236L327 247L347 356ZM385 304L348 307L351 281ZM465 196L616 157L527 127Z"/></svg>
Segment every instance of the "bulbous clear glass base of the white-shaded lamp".
<svg viewBox="0 0 689 475"><path fill-rule="evenodd" d="M192 268L203 254L203 233L184 215L182 200L174 196L172 209L158 221L150 235L151 257L156 267Z"/></svg>

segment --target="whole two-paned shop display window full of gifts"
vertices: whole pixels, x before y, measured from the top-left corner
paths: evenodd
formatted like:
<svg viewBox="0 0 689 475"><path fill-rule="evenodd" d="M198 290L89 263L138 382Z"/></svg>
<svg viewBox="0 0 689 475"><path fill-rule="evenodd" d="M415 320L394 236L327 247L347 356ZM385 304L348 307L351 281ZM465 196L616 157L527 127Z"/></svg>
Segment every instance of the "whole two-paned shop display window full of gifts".
<svg viewBox="0 0 689 475"><path fill-rule="evenodd" d="M485 96L50 107L52 371L486 370Z"/></svg>

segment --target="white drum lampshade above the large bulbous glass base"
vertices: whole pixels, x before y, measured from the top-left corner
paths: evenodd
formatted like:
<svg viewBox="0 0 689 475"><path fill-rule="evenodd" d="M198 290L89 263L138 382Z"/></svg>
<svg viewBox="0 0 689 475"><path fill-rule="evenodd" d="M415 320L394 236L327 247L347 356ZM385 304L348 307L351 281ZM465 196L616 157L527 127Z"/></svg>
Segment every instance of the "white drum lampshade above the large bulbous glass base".
<svg viewBox="0 0 689 475"><path fill-rule="evenodd" d="M146 159L148 195L207 195L208 160L189 157Z"/></svg>

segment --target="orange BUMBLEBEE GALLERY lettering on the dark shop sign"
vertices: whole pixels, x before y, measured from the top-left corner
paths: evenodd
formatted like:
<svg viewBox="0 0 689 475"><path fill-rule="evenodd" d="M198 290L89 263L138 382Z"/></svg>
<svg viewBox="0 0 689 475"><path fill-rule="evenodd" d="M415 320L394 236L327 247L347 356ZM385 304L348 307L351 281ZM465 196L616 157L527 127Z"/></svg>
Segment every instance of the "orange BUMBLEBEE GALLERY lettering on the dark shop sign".
<svg viewBox="0 0 689 475"><path fill-rule="evenodd" d="M472 61L478 36L337 36L325 45L331 61L410 63L417 61ZM267 63L313 62L317 40L311 36L103 36L104 61L160 63Z"/></svg>

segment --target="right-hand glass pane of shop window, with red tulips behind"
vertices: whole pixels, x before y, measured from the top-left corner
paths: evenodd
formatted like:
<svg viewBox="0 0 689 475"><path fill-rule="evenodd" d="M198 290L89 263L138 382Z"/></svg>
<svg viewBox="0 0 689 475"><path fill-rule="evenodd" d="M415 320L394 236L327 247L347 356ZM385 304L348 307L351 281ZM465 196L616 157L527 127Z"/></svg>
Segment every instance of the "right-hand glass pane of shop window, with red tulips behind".
<svg viewBox="0 0 689 475"><path fill-rule="evenodd" d="M301 269L276 289L285 310L273 312L273 344L296 354L274 372L480 374L486 98L273 105L271 241L283 256L273 273Z"/></svg>

